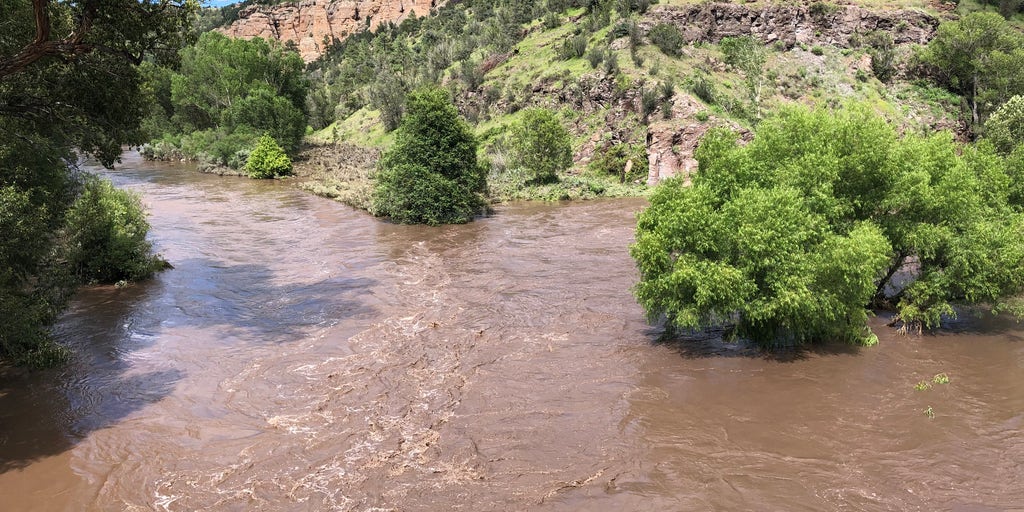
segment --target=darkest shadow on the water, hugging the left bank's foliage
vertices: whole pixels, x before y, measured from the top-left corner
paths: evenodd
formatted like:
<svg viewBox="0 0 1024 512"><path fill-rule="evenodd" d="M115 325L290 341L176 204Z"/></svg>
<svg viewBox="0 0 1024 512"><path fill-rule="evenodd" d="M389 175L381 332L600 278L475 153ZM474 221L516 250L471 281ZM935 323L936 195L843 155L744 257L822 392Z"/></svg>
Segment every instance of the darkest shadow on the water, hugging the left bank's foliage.
<svg viewBox="0 0 1024 512"><path fill-rule="evenodd" d="M72 449L171 393L177 370L132 373L126 331L155 283L82 290L54 336L72 349L62 368L0 370L0 474Z"/></svg>

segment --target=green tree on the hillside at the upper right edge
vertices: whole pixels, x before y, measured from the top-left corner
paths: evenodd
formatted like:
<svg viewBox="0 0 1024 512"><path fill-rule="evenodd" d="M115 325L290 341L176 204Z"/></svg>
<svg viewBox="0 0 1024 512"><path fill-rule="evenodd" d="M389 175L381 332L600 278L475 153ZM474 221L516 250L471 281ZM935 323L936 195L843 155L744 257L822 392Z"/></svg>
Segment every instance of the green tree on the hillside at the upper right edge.
<svg viewBox="0 0 1024 512"><path fill-rule="evenodd" d="M921 58L942 85L967 99L972 126L1024 94L1024 36L994 12L943 23Z"/></svg>

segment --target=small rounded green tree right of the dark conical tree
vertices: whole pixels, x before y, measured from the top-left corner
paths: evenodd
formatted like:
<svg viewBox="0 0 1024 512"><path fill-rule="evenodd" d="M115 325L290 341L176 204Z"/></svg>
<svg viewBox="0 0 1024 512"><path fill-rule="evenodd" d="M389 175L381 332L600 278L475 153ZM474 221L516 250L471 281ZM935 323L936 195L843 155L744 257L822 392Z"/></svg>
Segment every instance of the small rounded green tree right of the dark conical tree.
<svg viewBox="0 0 1024 512"><path fill-rule="evenodd" d="M558 180L558 173L572 165L572 139L555 114L527 109L512 127L512 166L538 182Z"/></svg>

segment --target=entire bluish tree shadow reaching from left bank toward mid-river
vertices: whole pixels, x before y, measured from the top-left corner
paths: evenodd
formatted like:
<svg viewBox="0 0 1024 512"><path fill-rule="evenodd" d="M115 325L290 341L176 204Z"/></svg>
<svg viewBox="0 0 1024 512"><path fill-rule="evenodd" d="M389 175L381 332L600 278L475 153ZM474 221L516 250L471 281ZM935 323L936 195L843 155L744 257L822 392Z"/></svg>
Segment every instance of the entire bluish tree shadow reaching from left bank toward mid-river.
<svg viewBox="0 0 1024 512"><path fill-rule="evenodd" d="M170 395L184 377L176 368L139 369L139 349L159 344L153 365L181 364L197 343L241 346L305 339L311 329L372 315L364 296L375 282L335 276L308 283L279 278L266 265L209 259L175 262L156 280L124 289L82 290L54 328L73 352L65 368L0 368L0 474L73 449L91 432L123 421ZM171 339L170 328L213 329L202 340ZM181 364L187 367L186 364Z"/></svg>

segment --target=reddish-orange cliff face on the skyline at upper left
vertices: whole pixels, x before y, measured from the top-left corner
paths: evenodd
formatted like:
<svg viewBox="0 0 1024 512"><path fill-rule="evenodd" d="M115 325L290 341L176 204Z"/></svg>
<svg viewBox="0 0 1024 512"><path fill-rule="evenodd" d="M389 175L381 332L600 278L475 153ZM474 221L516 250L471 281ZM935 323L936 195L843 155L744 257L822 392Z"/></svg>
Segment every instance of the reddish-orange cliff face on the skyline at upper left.
<svg viewBox="0 0 1024 512"><path fill-rule="evenodd" d="M220 29L230 37L295 42L307 62L327 49L325 41L342 40L373 30L384 22L400 23L416 12L430 13L446 0L300 0L279 5L252 5L239 19Z"/></svg>

